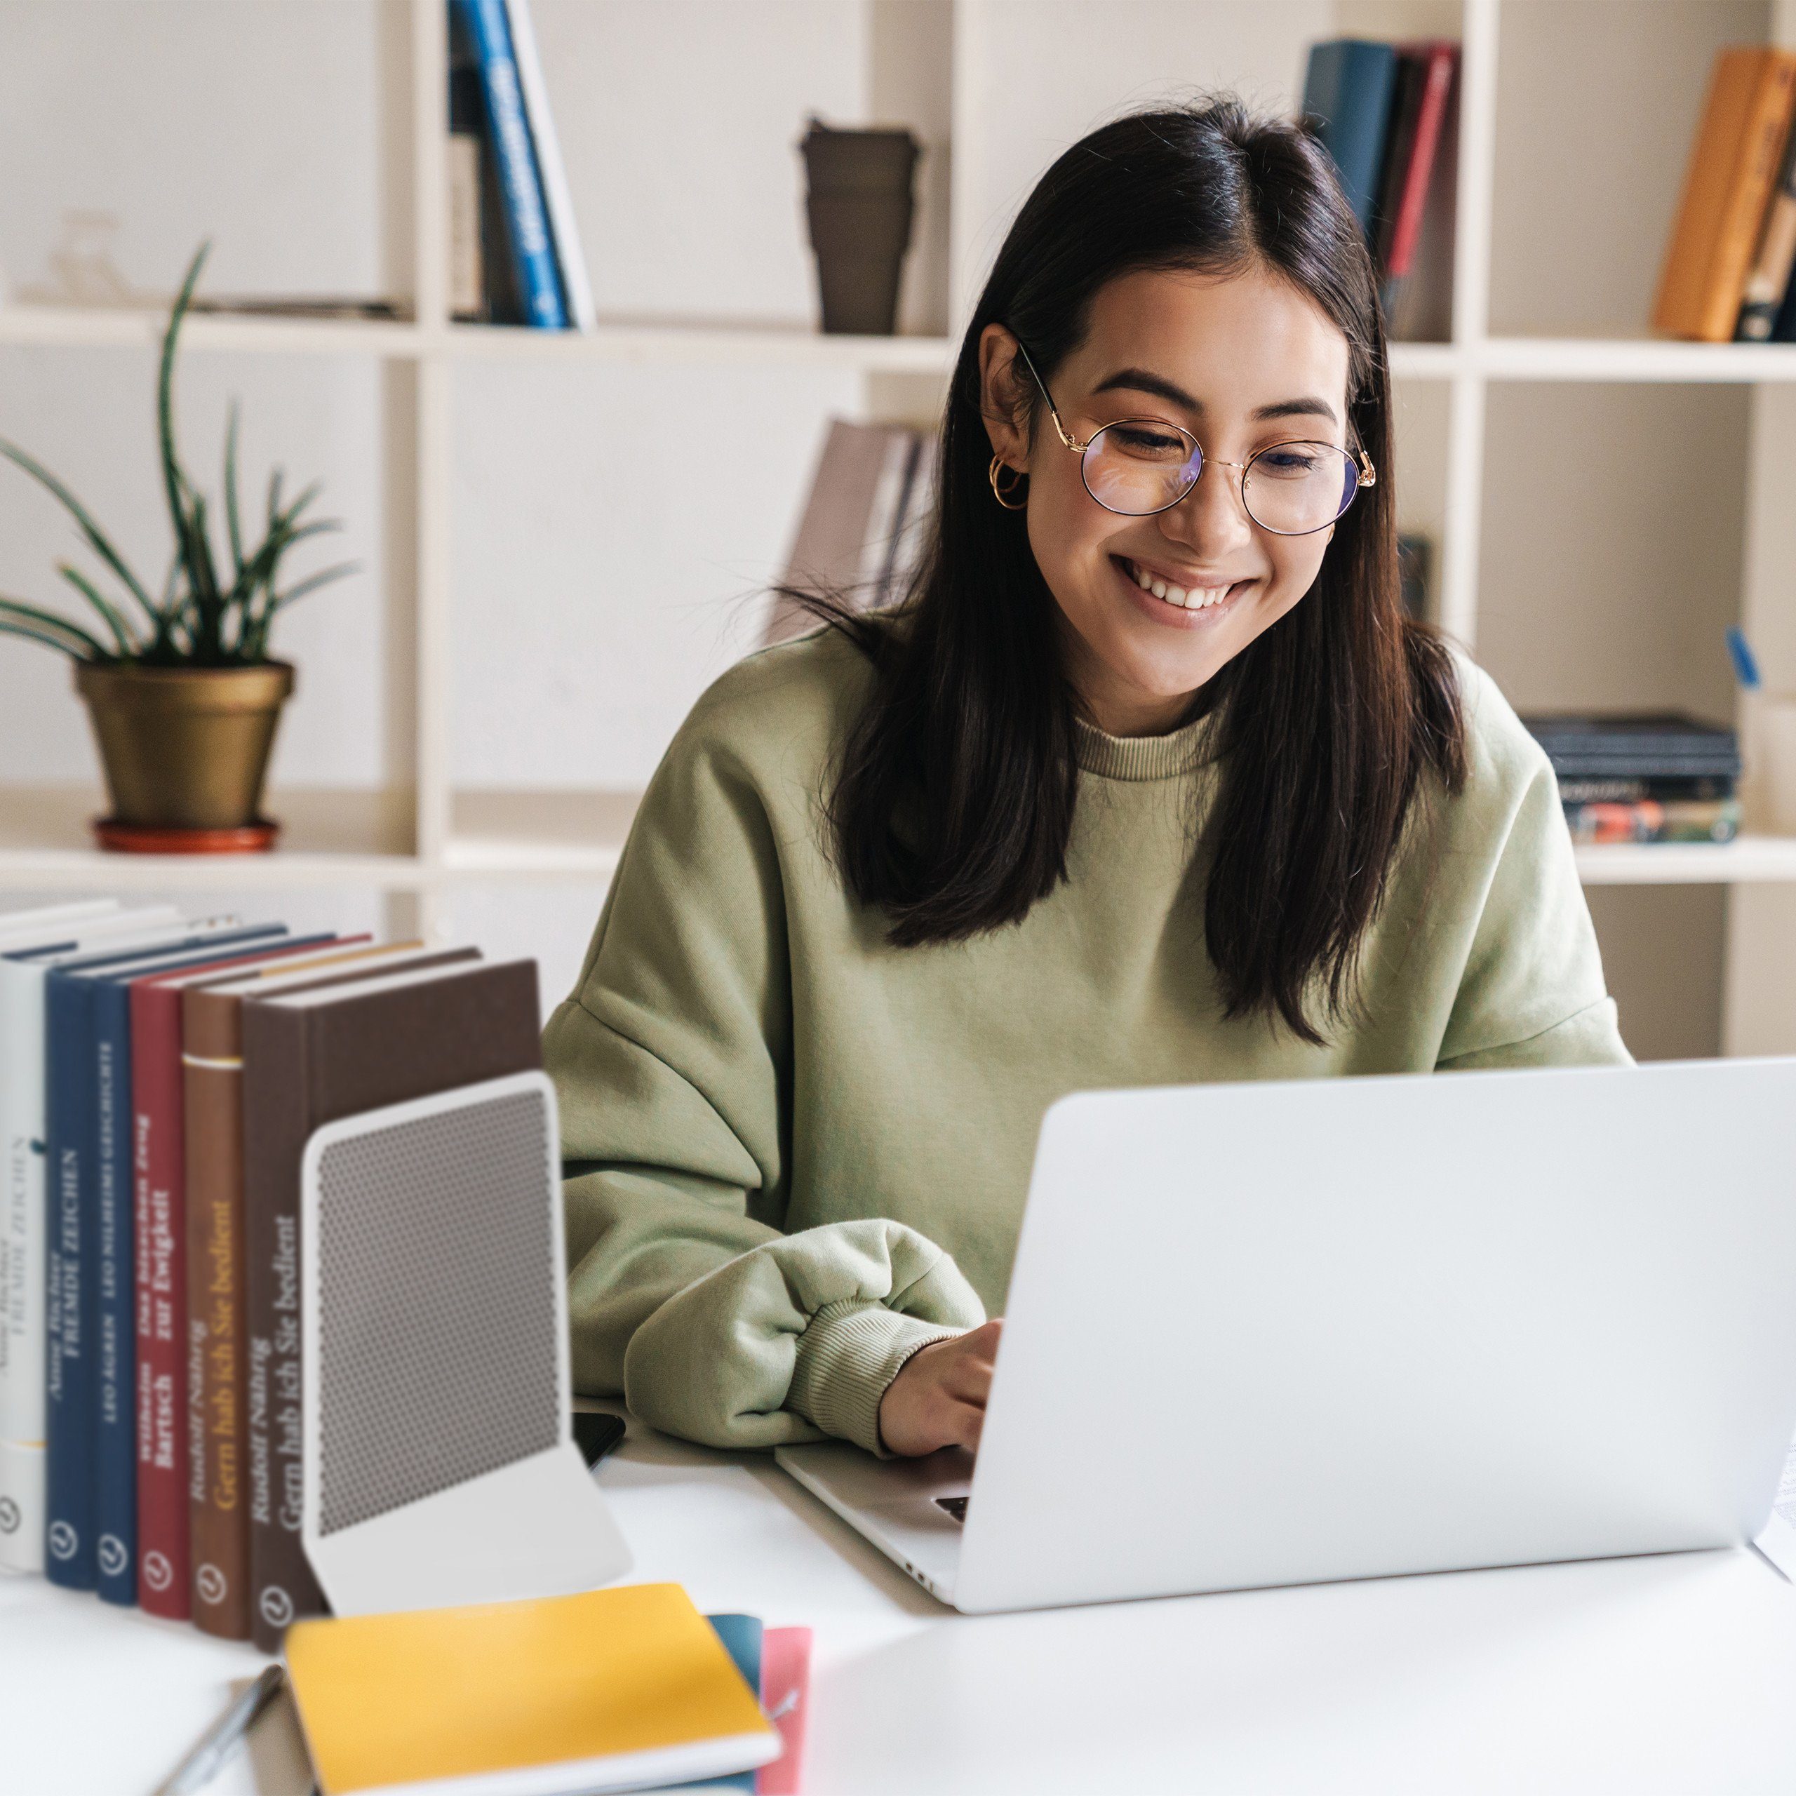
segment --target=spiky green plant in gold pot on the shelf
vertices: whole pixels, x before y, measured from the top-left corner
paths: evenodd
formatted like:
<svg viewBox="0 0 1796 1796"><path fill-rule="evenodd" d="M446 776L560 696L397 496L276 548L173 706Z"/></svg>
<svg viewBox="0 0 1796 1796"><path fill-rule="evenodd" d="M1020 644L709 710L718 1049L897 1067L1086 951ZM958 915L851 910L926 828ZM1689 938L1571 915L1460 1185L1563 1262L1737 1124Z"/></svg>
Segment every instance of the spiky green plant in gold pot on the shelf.
<svg viewBox="0 0 1796 1796"><path fill-rule="evenodd" d="M316 483L282 501L278 469L268 483L262 539L244 541L235 402L224 433L226 553L217 553L207 496L174 447L174 348L208 248L201 244L189 264L162 338L156 424L174 559L160 591L133 573L63 481L0 438L0 454L56 494L120 589L108 596L101 582L61 562L56 571L92 611L86 623L0 598L0 630L75 663L75 690L93 720L111 799L111 815L95 823L106 848L207 853L273 844L278 826L260 817L262 783L293 668L269 654L269 630L295 600L354 568L345 562L280 584L287 551L338 524L304 521Z"/></svg>

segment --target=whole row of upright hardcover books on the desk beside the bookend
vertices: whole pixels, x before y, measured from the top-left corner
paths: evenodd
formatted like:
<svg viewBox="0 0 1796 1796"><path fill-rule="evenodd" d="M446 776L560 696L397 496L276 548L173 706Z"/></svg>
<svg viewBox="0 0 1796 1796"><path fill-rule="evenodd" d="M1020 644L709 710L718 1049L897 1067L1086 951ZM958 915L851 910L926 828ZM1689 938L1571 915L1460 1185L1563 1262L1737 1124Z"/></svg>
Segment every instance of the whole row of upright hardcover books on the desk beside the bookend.
<svg viewBox="0 0 1796 1796"><path fill-rule="evenodd" d="M113 902L0 914L0 1564L277 1651L316 1128L541 1067L535 961Z"/></svg>

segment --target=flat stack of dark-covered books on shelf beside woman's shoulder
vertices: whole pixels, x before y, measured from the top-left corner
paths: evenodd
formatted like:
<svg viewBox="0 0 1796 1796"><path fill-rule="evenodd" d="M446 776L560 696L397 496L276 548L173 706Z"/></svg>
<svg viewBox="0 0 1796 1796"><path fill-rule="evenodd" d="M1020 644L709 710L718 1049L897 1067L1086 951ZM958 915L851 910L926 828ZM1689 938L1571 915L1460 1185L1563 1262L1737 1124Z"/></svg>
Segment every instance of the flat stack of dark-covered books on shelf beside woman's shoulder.
<svg viewBox="0 0 1796 1796"><path fill-rule="evenodd" d="M1739 736L1677 711L1525 717L1559 776L1575 842L1731 842Z"/></svg>

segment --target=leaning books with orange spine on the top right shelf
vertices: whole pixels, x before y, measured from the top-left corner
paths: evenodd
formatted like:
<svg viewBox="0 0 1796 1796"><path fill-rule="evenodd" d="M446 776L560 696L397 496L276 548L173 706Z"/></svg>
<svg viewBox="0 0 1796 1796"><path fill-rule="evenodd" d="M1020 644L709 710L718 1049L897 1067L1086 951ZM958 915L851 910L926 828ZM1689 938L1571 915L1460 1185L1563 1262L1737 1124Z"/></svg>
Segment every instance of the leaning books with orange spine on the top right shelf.
<svg viewBox="0 0 1796 1796"><path fill-rule="evenodd" d="M1796 50L1715 57L1652 323L1701 343L1796 341Z"/></svg>

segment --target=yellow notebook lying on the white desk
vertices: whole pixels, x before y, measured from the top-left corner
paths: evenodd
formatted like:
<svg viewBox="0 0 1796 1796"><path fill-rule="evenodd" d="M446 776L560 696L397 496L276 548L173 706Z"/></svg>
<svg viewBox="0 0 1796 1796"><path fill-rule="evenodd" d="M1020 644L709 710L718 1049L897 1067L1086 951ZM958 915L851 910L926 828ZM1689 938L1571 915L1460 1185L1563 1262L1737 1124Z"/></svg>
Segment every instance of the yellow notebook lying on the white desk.
<svg viewBox="0 0 1796 1796"><path fill-rule="evenodd" d="M286 1660L323 1796L562 1796L779 1755L679 1584L296 1622Z"/></svg>

